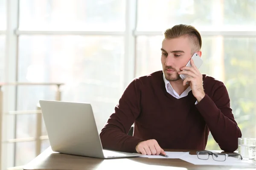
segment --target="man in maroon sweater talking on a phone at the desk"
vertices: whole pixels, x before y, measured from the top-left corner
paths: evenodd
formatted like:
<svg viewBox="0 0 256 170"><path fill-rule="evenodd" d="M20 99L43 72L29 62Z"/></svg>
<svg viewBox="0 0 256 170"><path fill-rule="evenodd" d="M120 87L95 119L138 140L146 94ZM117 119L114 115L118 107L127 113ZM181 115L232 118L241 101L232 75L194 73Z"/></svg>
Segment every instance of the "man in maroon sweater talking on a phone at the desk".
<svg viewBox="0 0 256 170"><path fill-rule="evenodd" d="M200 33L181 24L164 36L163 71L128 85L100 133L103 147L144 155L165 154L162 148L204 150L211 131L222 150L235 151L241 130L227 89L223 82L202 75L191 59L194 53L202 55ZM192 67L184 67L189 60ZM183 81L180 74L189 77ZM133 123L134 136L128 136Z"/></svg>

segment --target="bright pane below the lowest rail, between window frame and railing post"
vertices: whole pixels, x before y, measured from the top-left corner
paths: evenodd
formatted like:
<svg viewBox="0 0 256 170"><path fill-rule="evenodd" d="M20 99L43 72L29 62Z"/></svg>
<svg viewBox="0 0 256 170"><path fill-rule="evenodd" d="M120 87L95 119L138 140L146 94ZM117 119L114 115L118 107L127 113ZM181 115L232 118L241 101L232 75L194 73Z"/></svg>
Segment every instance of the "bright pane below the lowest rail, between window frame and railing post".
<svg viewBox="0 0 256 170"><path fill-rule="evenodd" d="M35 158L35 141L16 143L15 166L22 166Z"/></svg>

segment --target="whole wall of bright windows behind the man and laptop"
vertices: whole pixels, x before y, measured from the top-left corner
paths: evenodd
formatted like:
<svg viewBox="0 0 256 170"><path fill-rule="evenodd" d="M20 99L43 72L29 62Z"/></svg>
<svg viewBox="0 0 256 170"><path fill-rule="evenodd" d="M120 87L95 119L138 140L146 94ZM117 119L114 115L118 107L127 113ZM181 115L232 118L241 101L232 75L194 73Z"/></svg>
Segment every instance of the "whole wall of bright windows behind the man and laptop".
<svg viewBox="0 0 256 170"><path fill-rule="evenodd" d="M255 137L255 0L20 0L16 11L8 11L18 20L17 31L7 30L17 42L6 34L9 2L0 0L0 51L17 44L13 79L65 83L61 99L90 102L99 131L131 77L162 69L164 29L184 23L201 32L201 73L225 83L243 137ZM1 82L7 57L0 53ZM35 110L38 100L54 100L55 93L56 86L18 86L14 108ZM35 136L35 114L8 119L13 127L8 139ZM42 135L47 135L44 123ZM28 163L36 156L35 145L35 141L6 144L10 152L3 153L4 169ZM48 146L49 140L42 139L41 151ZM207 149L219 149L211 135Z"/></svg>

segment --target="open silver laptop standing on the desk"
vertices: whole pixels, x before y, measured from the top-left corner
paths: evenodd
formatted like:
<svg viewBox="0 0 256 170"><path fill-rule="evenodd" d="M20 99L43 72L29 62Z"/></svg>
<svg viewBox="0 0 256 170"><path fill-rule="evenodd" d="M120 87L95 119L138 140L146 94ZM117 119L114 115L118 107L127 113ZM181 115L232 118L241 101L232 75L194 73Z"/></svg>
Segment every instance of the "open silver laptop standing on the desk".
<svg viewBox="0 0 256 170"><path fill-rule="evenodd" d="M49 100L39 103L53 151L102 159L142 156L104 150L89 103Z"/></svg>

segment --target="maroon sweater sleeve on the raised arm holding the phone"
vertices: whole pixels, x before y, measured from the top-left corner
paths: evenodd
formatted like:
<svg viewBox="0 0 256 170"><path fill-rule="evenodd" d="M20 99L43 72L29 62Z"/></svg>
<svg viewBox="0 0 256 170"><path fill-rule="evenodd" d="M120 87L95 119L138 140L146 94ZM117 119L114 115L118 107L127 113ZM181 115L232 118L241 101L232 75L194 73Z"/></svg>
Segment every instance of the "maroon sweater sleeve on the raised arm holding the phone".
<svg viewBox="0 0 256 170"><path fill-rule="evenodd" d="M219 147L226 152L235 151L242 134L230 108L230 98L224 83L221 82L215 88L212 99L205 94L196 107Z"/></svg>

